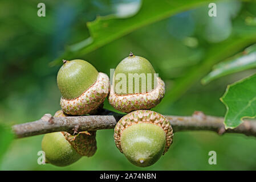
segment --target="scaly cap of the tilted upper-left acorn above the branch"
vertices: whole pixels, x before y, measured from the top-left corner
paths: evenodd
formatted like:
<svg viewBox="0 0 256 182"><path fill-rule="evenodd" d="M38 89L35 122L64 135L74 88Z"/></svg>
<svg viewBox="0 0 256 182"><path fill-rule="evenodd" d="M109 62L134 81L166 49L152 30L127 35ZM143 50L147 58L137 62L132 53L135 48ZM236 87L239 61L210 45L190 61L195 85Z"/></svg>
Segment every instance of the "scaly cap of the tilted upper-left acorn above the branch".
<svg viewBox="0 0 256 182"><path fill-rule="evenodd" d="M66 114L83 115L94 113L108 96L109 78L105 73L99 73L97 80L79 97L68 100L60 98L60 106Z"/></svg>

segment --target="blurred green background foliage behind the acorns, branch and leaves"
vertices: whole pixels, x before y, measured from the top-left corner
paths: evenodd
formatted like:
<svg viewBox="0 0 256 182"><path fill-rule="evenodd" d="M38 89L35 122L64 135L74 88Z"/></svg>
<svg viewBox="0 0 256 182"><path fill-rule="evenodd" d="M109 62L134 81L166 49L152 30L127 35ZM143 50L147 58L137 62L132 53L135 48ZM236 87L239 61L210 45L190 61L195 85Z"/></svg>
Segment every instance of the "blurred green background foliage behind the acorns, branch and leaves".
<svg viewBox="0 0 256 182"><path fill-rule="evenodd" d="M39 2L46 4L46 17L37 16ZM133 6L121 6L125 3ZM200 79L219 61L256 42L255 2L217 1L217 17L209 17L209 3L180 2L187 6L171 16L135 28L102 47L68 59L89 61L100 72L109 69L132 51L151 61L166 83L166 97L153 110L161 114L191 115L195 110L224 116L219 98L226 85L255 70L241 72L202 86ZM206 2L206 3L205 3ZM141 6L141 7L140 7ZM153 6L153 5L152 5ZM176 2L176 6L178 5ZM35 121L60 109L56 75L67 45L90 36L87 22L96 16L116 15L123 21L136 17L140 1L13 1L0 2L0 121L10 126ZM172 8L172 6L170 6ZM154 7L148 10L151 14ZM123 12L125 14L119 15ZM147 12L147 9L144 8ZM123 18L123 19L122 19ZM144 16L147 19L147 16ZM250 20L250 21L249 21ZM116 25L118 26L118 24ZM127 27L121 27L123 29ZM111 34L111 32L108 32ZM110 36L110 35L109 35ZM53 60L58 64L50 66ZM56 63L56 61L55 61ZM104 107L113 110L105 101ZM1 130L1 128L0 128ZM0 142L6 135L0 131ZM242 134L219 136L209 131L174 134L169 152L151 167L133 166L115 146L113 130L97 131L97 152L68 167L37 163L43 135L14 139L2 157L2 170L255 170L256 139ZM217 152L217 165L209 165L209 151ZM1 151L1 150L0 150Z"/></svg>

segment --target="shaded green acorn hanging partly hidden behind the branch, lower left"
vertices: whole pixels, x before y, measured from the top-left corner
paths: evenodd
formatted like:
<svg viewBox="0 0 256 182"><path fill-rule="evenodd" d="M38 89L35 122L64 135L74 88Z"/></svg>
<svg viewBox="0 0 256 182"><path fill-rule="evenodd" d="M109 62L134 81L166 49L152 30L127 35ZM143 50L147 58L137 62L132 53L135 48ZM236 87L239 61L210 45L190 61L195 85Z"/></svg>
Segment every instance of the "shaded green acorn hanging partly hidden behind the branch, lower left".
<svg viewBox="0 0 256 182"><path fill-rule="evenodd" d="M67 117L62 110L54 117ZM46 163L64 167L82 158L92 156L97 150L96 131L82 131L77 135L67 132L55 132L44 135L42 150L46 154Z"/></svg>

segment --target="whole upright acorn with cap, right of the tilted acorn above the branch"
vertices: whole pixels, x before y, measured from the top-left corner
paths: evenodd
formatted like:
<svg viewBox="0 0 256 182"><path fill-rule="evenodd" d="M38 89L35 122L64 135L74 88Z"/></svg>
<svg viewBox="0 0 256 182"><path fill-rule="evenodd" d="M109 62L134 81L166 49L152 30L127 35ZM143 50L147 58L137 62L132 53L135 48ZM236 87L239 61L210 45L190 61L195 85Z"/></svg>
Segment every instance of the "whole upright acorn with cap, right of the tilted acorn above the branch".
<svg viewBox="0 0 256 182"><path fill-rule="evenodd" d="M155 107L164 94L164 81L151 63L130 53L115 69L108 100L116 110L129 113Z"/></svg>

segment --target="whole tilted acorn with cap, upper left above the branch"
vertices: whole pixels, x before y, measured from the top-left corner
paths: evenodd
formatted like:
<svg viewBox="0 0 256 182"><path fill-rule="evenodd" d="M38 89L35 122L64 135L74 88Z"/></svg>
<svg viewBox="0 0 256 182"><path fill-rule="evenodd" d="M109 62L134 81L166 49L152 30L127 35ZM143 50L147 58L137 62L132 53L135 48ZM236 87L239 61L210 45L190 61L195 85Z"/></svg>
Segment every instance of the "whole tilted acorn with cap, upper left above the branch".
<svg viewBox="0 0 256 182"><path fill-rule="evenodd" d="M64 113L70 115L95 113L108 96L108 76L80 59L63 60L57 84L62 94L60 106Z"/></svg>

